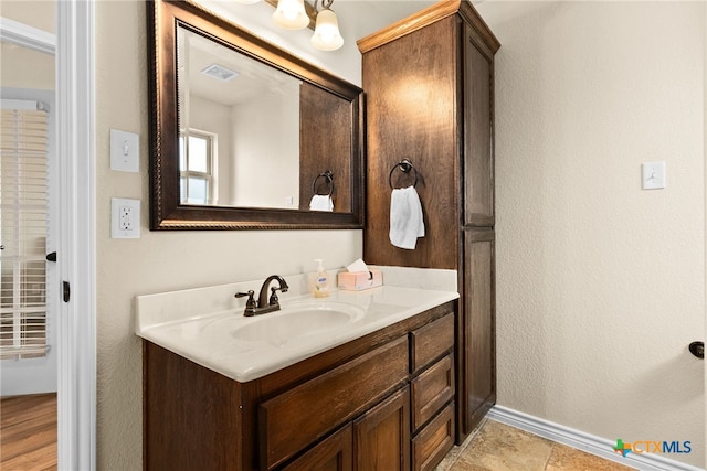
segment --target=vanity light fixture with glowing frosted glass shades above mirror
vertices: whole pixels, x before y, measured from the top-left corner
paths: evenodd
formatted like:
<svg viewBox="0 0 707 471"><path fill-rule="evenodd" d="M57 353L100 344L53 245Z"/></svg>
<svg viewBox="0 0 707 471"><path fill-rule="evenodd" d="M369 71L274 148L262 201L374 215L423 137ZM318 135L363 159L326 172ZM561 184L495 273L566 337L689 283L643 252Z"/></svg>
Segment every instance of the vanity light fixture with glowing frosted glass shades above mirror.
<svg viewBox="0 0 707 471"><path fill-rule="evenodd" d="M257 3L260 0L235 0L239 3ZM339 22L336 13L330 7L334 0L321 0L321 10L317 7L319 0L314 0L314 4L307 0L265 0L275 7L273 21L285 30L304 30L312 24L314 35L312 45L320 51L336 51L344 45L344 38L339 32Z"/></svg>

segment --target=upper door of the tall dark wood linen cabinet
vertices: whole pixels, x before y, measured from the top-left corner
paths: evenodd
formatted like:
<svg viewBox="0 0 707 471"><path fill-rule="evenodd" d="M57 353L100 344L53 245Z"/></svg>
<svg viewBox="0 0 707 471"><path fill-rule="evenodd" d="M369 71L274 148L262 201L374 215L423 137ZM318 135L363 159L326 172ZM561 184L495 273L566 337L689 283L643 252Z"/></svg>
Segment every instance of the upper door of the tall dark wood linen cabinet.
<svg viewBox="0 0 707 471"><path fill-rule="evenodd" d="M494 225L493 55L464 28L464 223Z"/></svg>

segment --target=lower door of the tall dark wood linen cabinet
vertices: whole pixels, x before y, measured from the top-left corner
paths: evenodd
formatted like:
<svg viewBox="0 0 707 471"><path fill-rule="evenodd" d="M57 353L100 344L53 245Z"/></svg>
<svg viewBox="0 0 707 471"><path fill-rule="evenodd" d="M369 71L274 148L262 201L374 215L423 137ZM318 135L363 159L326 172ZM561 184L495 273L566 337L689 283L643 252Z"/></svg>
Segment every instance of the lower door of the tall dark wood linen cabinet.
<svg viewBox="0 0 707 471"><path fill-rule="evenodd" d="M494 231L464 232L465 431L471 431L496 400Z"/></svg>

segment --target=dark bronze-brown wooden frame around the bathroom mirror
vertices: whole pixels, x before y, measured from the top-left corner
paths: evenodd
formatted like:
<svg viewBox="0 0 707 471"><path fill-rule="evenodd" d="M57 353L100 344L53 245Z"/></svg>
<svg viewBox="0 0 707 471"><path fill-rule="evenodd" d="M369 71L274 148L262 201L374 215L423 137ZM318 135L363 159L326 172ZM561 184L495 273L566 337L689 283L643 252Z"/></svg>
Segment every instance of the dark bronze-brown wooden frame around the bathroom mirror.
<svg viewBox="0 0 707 471"><path fill-rule="evenodd" d="M189 1L155 0L146 4L151 122L150 229L362 228L362 90ZM180 204L177 25L196 31L350 103L350 212Z"/></svg>

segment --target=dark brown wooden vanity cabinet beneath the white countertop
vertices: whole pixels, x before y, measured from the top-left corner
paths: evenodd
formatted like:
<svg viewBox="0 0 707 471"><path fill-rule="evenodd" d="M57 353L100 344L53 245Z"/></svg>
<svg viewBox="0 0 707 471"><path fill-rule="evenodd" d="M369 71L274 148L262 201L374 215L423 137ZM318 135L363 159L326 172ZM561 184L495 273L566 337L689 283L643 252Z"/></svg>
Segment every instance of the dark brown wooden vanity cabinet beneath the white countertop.
<svg viewBox="0 0 707 471"><path fill-rule="evenodd" d="M453 443L457 306L247 383L145 341L145 469L433 469Z"/></svg>

